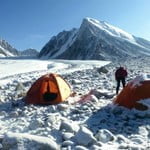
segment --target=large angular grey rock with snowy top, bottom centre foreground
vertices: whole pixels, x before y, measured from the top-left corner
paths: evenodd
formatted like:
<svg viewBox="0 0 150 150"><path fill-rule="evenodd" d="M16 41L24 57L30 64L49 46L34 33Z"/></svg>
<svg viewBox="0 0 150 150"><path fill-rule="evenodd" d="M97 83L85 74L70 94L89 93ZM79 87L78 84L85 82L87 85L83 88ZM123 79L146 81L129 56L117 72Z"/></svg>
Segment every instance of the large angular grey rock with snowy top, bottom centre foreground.
<svg viewBox="0 0 150 150"><path fill-rule="evenodd" d="M93 136L93 133L86 127L81 127L77 134L74 136L74 139L80 145L90 145L96 142L96 139Z"/></svg>

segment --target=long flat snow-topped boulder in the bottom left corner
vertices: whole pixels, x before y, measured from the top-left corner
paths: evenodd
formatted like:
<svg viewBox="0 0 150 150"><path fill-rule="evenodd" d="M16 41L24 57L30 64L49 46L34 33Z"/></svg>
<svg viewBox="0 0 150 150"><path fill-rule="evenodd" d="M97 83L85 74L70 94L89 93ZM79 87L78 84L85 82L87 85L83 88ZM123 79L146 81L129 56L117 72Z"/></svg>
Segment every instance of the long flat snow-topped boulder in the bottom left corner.
<svg viewBox="0 0 150 150"><path fill-rule="evenodd" d="M36 136L31 134L7 133L2 141L4 150L8 149L31 149L33 150L58 150L56 142L47 137Z"/></svg>

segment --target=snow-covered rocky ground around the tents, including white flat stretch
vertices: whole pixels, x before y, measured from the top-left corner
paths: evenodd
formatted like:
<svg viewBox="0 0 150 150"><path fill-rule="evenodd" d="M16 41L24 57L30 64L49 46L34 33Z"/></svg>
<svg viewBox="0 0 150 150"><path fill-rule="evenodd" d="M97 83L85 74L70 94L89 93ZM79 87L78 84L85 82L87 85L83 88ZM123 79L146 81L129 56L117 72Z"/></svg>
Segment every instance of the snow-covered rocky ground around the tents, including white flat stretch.
<svg viewBox="0 0 150 150"><path fill-rule="evenodd" d="M150 73L149 60L123 62L129 72L127 80ZM150 111L112 105L117 65L104 61L0 59L0 149L150 149ZM60 74L76 95L58 105L26 105L26 92L46 73Z"/></svg>

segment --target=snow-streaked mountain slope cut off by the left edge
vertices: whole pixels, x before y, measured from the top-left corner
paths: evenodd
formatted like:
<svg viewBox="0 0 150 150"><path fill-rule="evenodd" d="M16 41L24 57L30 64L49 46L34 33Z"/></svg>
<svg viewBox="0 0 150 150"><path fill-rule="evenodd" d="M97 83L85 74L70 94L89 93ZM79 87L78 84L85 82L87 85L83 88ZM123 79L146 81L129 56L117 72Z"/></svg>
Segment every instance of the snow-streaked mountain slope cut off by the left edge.
<svg viewBox="0 0 150 150"><path fill-rule="evenodd" d="M8 42L0 39L0 57L17 56L17 49L13 48Z"/></svg>

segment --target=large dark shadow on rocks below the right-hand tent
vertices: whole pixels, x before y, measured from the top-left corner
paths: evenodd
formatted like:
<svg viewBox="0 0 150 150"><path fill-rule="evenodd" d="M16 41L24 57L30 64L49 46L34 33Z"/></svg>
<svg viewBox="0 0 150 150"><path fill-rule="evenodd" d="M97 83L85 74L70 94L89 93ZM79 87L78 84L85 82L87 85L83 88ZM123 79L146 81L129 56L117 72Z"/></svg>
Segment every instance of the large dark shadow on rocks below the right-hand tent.
<svg viewBox="0 0 150 150"><path fill-rule="evenodd" d="M129 110L121 106L107 105L94 112L86 124L94 134L101 129L107 129L114 135L139 134L139 127L150 125L150 111Z"/></svg>

